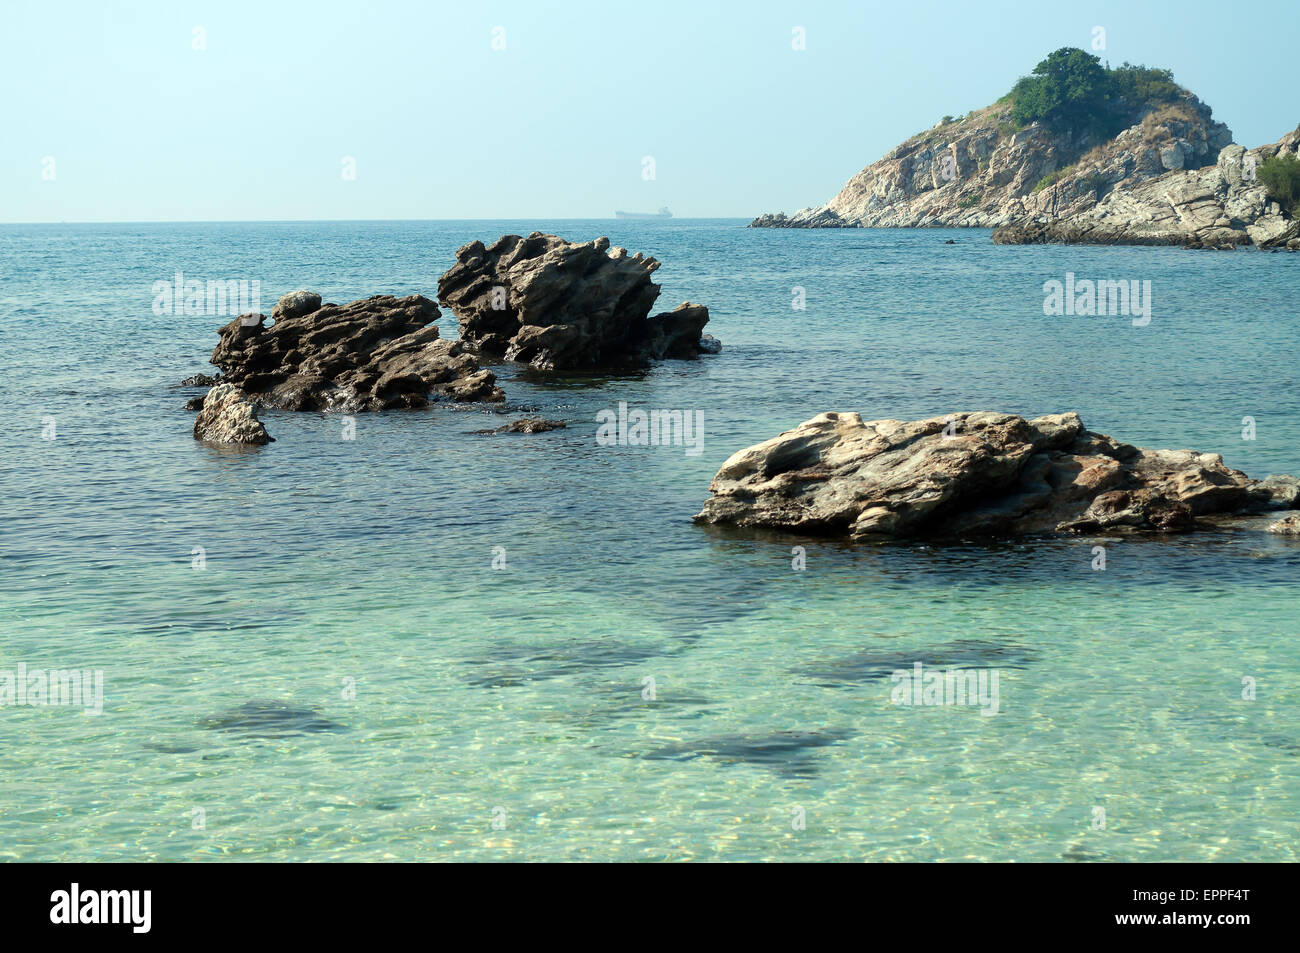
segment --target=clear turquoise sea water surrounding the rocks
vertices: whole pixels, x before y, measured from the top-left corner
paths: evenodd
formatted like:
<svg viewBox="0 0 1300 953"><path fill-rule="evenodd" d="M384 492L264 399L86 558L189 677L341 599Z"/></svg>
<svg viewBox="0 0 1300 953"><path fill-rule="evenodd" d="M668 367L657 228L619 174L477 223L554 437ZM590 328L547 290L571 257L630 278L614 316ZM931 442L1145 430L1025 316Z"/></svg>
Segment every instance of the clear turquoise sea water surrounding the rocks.
<svg viewBox="0 0 1300 953"><path fill-rule="evenodd" d="M0 670L105 679L100 716L0 709L0 857L1297 859L1300 543L690 523L729 454L826 410L1076 410L1300 471L1297 260L741 225L0 226ZM191 438L173 385L228 319L155 316L155 281L256 278L268 313L296 287L433 296L459 244L534 228L659 257L660 304L708 304L723 354L498 368L569 421L546 434L437 406L351 442L273 411L269 447ZM1066 272L1150 280L1150 325L1045 317ZM702 411L703 452L597 446L620 400ZM892 705L918 658L996 667L1000 712Z"/></svg>

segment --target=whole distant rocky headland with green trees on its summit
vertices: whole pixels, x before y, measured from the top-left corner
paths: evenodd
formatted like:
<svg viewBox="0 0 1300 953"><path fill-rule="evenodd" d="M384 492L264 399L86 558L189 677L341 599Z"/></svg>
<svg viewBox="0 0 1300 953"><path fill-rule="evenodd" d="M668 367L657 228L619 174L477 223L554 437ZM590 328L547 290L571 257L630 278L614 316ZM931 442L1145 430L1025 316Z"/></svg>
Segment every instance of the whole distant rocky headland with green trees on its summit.
<svg viewBox="0 0 1300 953"><path fill-rule="evenodd" d="M1066 48L993 105L907 139L824 205L750 228L993 228L1006 244L1296 248L1300 191L1270 187L1258 170L1295 160L1297 147L1300 129L1236 146L1169 70L1108 69Z"/></svg>

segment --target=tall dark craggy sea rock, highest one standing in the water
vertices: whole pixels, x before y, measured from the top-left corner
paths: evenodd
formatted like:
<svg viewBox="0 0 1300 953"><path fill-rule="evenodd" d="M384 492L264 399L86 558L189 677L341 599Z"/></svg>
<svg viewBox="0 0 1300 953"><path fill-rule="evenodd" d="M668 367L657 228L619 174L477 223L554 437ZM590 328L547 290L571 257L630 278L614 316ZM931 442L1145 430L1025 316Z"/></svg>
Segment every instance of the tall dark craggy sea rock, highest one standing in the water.
<svg viewBox="0 0 1300 953"><path fill-rule="evenodd" d="M465 345L546 371L694 358L708 308L686 302L649 317L656 268L608 238L503 235L459 248L438 299L460 320Z"/></svg>

